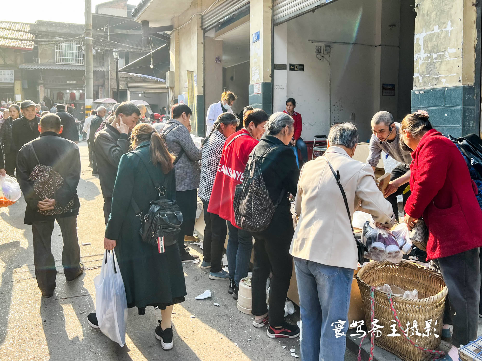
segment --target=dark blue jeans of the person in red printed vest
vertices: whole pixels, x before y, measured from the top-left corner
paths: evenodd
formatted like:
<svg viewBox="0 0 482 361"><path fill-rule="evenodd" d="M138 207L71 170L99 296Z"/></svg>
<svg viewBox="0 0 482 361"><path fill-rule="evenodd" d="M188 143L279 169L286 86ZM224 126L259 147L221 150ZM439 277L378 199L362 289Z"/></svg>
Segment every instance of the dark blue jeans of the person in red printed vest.
<svg viewBox="0 0 482 361"><path fill-rule="evenodd" d="M248 275L249 260L253 249L253 237L248 231L244 231L228 223L228 256L229 278L233 278L237 286Z"/></svg>

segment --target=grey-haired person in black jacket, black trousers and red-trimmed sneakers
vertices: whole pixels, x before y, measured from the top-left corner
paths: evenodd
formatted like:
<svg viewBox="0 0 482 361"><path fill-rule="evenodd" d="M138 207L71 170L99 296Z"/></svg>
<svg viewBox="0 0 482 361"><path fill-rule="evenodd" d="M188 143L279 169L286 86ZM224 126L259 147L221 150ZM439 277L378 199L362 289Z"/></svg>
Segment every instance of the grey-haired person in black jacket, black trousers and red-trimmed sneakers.
<svg viewBox="0 0 482 361"><path fill-rule="evenodd" d="M277 112L269 117L266 132L250 158L257 157L263 179L273 204L278 204L268 228L254 232L254 268L252 276L253 326L264 327L270 338L295 338L299 328L284 321L284 304L290 287L293 258L289 254L293 237L293 219L288 195L296 194L299 170L296 158L288 147L294 133L294 120ZM269 286L269 316L266 305L266 280L273 272Z"/></svg>

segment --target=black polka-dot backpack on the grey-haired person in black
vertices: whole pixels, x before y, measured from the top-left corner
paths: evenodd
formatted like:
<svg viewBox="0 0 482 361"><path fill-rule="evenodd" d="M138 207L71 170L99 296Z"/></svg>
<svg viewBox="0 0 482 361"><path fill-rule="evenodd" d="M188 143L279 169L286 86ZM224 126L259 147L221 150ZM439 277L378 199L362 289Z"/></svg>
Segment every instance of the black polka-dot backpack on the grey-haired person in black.
<svg viewBox="0 0 482 361"><path fill-rule="evenodd" d="M260 158L277 145L281 144L270 146L260 156L255 156L254 150L251 152L246 168L244 168L243 181L236 186L234 191L234 219L236 224L245 231L266 230L273 219L276 207L280 204L283 195L286 194L283 189L278 200L273 204L261 171Z"/></svg>

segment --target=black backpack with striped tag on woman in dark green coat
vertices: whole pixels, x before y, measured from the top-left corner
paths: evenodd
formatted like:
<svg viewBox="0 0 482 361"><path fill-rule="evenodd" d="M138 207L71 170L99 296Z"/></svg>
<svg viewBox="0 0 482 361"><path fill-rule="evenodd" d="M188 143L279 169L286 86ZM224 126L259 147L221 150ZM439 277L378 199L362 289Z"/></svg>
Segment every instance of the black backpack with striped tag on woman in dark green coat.
<svg viewBox="0 0 482 361"><path fill-rule="evenodd" d="M166 199L164 183L159 184L157 176L153 174L152 163L141 152L133 152L147 168L149 177L159 191L159 199L150 202L147 214L142 215L139 206L134 198L131 198L131 205L135 215L141 219L139 234L142 240L149 245L158 246L159 253L163 253L165 247L174 245L177 242L177 235L181 231L183 215L176 201ZM164 178L164 182L165 182Z"/></svg>

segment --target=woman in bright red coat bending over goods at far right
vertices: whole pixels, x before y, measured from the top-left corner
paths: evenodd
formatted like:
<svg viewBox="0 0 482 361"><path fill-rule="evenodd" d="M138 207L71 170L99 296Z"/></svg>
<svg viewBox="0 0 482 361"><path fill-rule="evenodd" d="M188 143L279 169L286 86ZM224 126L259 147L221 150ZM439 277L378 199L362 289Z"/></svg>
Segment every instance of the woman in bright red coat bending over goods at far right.
<svg viewBox="0 0 482 361"><path fill-rule="evenodd" d="M450 336L447 324L454 326L453 346L441 360L458 361L457 347L477 338L482 246L478 190L462 154L452 141L432 129L427 112L405 116L401 131L403 142L415 149L405 223L411 229L423 216L427 224L427 255L438 264L449 291L442 337L444 333Z"/></svg>

